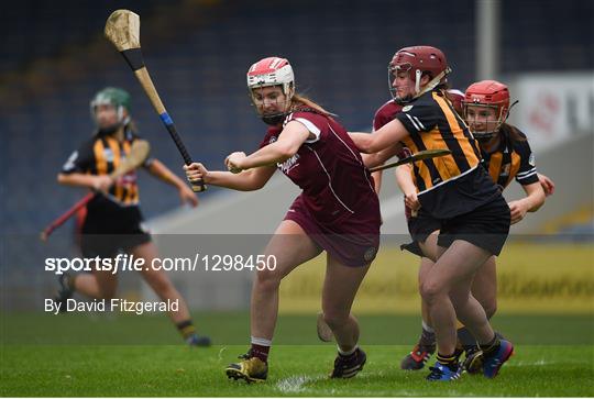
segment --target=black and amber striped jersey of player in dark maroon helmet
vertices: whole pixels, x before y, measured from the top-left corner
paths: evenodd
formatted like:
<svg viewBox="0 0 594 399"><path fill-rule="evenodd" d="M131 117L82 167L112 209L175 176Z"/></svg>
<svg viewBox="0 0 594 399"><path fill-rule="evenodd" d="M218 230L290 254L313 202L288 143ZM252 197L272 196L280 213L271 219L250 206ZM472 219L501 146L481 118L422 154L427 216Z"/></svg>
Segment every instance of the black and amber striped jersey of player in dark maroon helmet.
<svg viewBox="0 0 594 399"><path fill-rule="evenodd" d="M421 206L438 219L466 213L499 195L481 167L481 151L466 124L438 89L403 107L395 117L409 133L403 145L413 153L450 149L451 154L413 165Z"/></svg>

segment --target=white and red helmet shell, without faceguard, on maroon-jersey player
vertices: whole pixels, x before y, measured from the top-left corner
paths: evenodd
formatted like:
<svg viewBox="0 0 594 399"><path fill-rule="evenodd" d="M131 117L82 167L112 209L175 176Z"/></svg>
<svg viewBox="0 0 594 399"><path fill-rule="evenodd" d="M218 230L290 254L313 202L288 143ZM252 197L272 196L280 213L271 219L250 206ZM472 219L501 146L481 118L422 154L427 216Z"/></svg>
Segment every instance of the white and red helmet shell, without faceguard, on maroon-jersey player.
<svg viewBox="0 0 594 399"><path fill-rule="evenodd" d="M283 92L292 98L295 87L295 75L286 58L267 57L253 64L248 70L248 88L283 86Z"/></svg>

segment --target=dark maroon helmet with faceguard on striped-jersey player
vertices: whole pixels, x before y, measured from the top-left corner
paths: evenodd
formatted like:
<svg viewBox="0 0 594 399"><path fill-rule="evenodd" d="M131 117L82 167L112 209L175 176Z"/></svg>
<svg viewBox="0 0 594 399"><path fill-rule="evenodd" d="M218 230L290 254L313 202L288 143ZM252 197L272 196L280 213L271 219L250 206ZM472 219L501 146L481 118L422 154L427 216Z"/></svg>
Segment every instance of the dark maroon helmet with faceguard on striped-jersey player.
<svg viewBox="0 0 594 399"><path fill-rule="evenodd" d="M397 74L402 73L407 73L410 80L415 82L415 93L406 98L400 98L394 87L394 79ZM435 89L438 85L446 84L448 81L447 75L450 73L446 55L439 48L431 46L405 47L396 52L388 64L388 88L394 100L404 104ZM420 80L424 75L428 75L431 80L421 89Z"/></svg>

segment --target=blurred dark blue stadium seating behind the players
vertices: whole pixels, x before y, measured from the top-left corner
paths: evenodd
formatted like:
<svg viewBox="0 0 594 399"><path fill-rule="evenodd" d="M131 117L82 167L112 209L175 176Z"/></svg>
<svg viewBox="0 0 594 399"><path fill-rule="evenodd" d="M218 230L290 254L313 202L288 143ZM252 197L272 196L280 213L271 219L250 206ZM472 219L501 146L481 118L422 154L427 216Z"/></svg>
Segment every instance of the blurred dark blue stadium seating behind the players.
<svg viewBox="0 0 594 399"><path fill-rule="evenodd" d="M190 152L212 168L221 168L232 151L253 151L264 133L244 81L246 68L260 57L289 57L298 89L352 130L366 129L388 98L386 66L399 47L438 46L453 67L453 87L463 89L474 79L472 0L224 0L191 30L162 21L168 27L167 43L147 40L165 33L150 27L151 21L166 19L156 4L117 1L106 9L106 2L68 0L58 8L29 0L12 3L2 14L0 81L3 90L26 99L10 112L0 111L3 232L36 232L81 196L57 186L55 176L91 133L88 101L108 85L133 95L133 115L153 154L180 174L182 159L138 82L101 42L105 19L114 8L130 7L142 15L153 80ZM170 4L178 13L204 7L189 0ZM587 0L562 5L554 0L503 1L502 71L593 69L593 11ZM81 54L85 47L77 47L91 43L94 53ZM26 71L43 85L12 78ZM148 217L178 204L175 192L144 176L141 198Z"/></svg>

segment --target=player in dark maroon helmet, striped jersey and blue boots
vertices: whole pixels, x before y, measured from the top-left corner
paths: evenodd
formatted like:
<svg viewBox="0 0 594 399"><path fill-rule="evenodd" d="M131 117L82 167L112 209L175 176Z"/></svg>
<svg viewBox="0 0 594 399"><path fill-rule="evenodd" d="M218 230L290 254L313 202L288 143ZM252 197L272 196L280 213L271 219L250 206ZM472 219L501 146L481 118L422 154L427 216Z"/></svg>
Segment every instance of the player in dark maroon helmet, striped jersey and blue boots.
<svg viewBox="0 0 594 399"><path fill-rule="evenodd" d="M414 164L420 209L442 221L437 261L421 285L436 331L438 359L428 380L453 380L461 373L455 356L457 317L476 336L484 352L484 375L495 377L513 353L499 340L481 304L472 297L476 270L498 255L509 232L509 207L481 167L481 154L466 125L446 99L450 68L443 53L430 46L405 47L391 63L389 80L402 112L374 134L350 133L364 153L397 151L399 142L413 153L448 148L451 155Z"/></svg>

